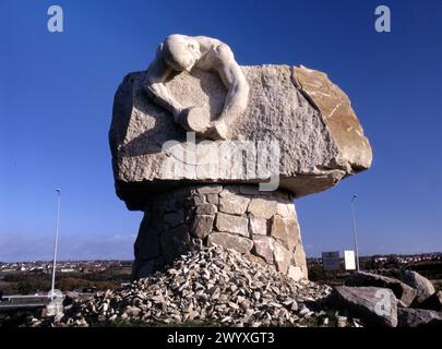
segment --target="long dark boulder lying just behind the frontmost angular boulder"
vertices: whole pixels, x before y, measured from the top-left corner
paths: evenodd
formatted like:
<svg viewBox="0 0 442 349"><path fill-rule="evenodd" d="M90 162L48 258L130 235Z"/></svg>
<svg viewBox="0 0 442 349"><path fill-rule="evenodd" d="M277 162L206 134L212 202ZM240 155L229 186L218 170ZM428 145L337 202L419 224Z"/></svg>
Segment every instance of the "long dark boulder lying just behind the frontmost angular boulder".
<svg viewBox="0 0 442 349"><path fill-rule="evenodd" d="M396 298L402 301L405 306L409 306L416 297L416 290L404 282L391 277L359 272L353 274L345 280L347 286L373 286L384 287L393 291Z"/></svg>

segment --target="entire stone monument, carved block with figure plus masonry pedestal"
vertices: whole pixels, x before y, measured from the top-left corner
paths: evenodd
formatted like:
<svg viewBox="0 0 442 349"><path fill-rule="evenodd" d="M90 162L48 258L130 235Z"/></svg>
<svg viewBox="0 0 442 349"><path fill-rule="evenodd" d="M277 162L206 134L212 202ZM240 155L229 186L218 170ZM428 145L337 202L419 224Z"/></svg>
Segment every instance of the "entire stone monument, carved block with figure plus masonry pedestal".
<svg viewBox="0 0 442 349"><path fill-rule="evenodd" d="M117 195L144 212L135 279L213 244L307 278L294 198L372 159L347 95L326 74L239 67L220 41L179 35L146 72L124 77L109 142Z"/></svg>

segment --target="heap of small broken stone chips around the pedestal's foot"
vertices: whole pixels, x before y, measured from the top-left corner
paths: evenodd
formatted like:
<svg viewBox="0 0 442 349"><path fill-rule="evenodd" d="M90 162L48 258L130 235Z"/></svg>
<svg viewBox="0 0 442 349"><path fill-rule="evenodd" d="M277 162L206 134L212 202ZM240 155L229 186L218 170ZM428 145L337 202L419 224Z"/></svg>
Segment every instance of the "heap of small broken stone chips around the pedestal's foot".
<svg viewBox="0 0 442 349"><path fill-rule="evenodd" d="M122 290L70 300L64 313L32 318L28 325L361 326L327 311L331 291L307 280L295 282L261 260L213 246L183 255Z"/></svg>

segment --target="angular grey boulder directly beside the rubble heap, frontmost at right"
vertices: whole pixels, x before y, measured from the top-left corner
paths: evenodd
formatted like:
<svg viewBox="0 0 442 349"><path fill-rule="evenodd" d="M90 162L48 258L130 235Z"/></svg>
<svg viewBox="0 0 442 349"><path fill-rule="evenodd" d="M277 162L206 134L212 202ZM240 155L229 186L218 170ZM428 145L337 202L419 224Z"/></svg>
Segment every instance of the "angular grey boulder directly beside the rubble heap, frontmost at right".
<svg viewBox="0 0 442 349"><path fill-rule="evenodd" d="M336 287L332 303L360 316L372 326L397 326L397 300L392 290L378 287Z"/></svg>

